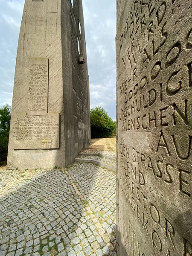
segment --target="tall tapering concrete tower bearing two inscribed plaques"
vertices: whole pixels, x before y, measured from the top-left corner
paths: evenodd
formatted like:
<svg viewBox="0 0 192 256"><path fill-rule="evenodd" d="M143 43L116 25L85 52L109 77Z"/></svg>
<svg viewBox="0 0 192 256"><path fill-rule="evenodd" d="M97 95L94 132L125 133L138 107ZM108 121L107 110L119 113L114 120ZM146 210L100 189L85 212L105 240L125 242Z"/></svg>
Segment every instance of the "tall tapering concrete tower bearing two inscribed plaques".
<svg viewBox="0 0 192 256"><path fill-rule="evenodd" d="M84 61L82 61L82 58ZM66 167L90 144L82 1L26 0L17 50L9 168Z"/></svg>

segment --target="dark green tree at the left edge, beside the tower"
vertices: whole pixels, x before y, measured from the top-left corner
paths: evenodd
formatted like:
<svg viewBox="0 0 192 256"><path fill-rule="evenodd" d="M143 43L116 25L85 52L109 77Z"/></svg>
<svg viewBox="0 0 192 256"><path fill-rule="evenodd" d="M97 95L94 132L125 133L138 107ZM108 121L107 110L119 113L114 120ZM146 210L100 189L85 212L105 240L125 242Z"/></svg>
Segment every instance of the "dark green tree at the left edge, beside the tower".
<svg viewBox="0 0 192 256"><path fill-rule="evenodd" d="M7 159L9 129L11 120L11 107L6 104L0 107L0 163Z"/></svg>

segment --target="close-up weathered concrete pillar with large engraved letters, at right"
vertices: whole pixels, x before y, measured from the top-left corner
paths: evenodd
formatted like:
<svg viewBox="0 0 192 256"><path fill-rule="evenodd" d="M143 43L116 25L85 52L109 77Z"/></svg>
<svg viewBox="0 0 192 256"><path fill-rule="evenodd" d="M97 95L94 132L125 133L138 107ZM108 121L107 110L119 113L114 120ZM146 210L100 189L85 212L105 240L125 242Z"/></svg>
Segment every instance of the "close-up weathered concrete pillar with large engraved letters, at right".
<svg viewBox="0 0 192 256"><path fill-rule="evenodd" d="M191 14L117 0L119 256L192 255Z"/></svg>

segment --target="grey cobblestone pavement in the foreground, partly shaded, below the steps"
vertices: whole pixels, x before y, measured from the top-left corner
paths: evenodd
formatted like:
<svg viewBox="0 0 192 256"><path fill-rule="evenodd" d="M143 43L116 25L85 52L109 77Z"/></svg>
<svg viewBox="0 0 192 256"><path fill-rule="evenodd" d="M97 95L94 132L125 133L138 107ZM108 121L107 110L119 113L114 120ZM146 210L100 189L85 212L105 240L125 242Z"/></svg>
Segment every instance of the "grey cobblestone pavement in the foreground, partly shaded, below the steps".
<svg viewBox="0 0 192 256"><path fill-rule="evenodd" d="M92 163L0 171L0 256L115 256L115 190Z"/></svg>

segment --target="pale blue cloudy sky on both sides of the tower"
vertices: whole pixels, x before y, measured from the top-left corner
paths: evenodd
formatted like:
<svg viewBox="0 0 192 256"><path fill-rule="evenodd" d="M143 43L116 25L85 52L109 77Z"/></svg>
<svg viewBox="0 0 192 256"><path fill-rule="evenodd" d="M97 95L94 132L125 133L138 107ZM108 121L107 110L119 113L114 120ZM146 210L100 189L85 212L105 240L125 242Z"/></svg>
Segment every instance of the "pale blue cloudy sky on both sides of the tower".
<svg viewBox="0 0 192 256"><path fill-rule="evenodd" d="M0 107L12 105L15 62L24 0L0 0ZM116 119L116 0L83 0L90 79L90 108Z"/></svg>

